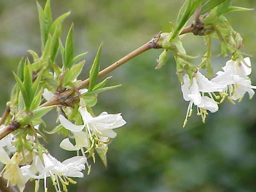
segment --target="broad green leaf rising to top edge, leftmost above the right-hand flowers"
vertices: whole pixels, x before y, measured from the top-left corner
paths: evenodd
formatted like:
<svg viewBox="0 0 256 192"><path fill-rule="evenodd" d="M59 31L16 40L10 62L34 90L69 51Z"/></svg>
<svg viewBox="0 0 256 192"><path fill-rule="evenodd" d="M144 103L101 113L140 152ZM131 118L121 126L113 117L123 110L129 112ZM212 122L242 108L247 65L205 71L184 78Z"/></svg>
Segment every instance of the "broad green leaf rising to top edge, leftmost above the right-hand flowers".
<svg viewBox="0 0 256 192"><path fill-rule="evenodd" d="M193 0L186 0L178 13L177 22L174 27L171 39L175 38L180 34L181 28L188 21L192 11L193 11Z"/></svg>

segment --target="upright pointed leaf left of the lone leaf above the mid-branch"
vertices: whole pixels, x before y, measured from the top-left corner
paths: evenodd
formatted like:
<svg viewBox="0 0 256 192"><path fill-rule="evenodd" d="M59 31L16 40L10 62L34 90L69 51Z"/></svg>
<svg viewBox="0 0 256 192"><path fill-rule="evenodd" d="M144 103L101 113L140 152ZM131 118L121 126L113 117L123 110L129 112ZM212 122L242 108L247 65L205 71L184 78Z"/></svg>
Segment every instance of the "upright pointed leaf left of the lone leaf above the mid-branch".
<svg viewBox="0 0 256 192"><path fill-rule="evenodd" d="M74 57L74 25L71 24L70 30L67 35L66 45L65 45L65 60L66 60L66 67L71 68L72 60Z"/></svg>

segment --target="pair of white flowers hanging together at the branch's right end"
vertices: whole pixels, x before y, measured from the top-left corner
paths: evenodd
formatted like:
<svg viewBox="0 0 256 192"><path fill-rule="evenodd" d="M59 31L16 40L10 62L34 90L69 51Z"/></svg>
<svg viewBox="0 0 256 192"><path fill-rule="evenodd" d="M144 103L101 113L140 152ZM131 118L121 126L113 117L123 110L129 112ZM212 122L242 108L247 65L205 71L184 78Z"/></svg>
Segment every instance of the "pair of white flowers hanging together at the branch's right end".
<svg viewBox="0 0 256 192"><path fill-rule="evenodd" d="M222 96L229 93L228 98L230 100L242 99L246 92L252 98L254 95L252 89L256 89L256 86L252 86L248 78L252 72L250 58L244 58L244 61L246 65L239 59L229 60L222 68L224 71L217 72L217 76L212 80L208 80L199 71L195 73L192 82L190 82L187 74L184 76L181 90L184 100L190 101L190 103L183 127L192 113L193 104L197 106L197 114L202 116L203 122L208 114L207 110L212 113L218 111L219 103L214 100L214 97L218 99L220 96L216 96L214 92L222 92ZM208 96L205 95L206 93Z"/></svg>

